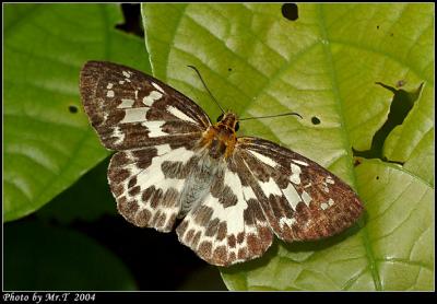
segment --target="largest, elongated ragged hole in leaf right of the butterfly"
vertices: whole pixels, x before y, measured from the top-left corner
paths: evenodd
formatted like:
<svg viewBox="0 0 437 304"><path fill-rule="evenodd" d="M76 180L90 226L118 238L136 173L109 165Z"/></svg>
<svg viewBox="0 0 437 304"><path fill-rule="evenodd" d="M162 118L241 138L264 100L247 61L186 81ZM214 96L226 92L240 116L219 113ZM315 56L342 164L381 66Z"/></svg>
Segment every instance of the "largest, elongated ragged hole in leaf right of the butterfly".
<svg viewBox="0 0 437 304"><path fill-rule="evenodd" d="M358 151L352 148L353 154L354 156L361 156L365 159L380 159L383 162L403 165L403 162L387 160L387 157L382 155L382 147L387 137L391 133L394 127L402 125L403 120L413 108L414 103L417 101L422 93L423 83L421 83L421 85L414 92L408 92L402 89L397 90L381 82L376 82L376 84L381 85L382 87L391 91L394 94L390 105L389 115L382 127L375 132L371 140L370 149L366 151Z"/></svg>

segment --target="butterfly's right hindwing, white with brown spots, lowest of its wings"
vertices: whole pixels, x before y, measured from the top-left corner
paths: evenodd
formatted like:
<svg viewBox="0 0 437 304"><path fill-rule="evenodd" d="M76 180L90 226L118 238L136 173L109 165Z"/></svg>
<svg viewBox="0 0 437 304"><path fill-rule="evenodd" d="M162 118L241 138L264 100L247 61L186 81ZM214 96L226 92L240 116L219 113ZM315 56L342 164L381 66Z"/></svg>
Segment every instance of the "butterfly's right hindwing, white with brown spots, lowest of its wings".
<svg viewBox="0 0 437 304"><path fill-rule="evenodd" d="M176 230L181 243L213 265L253 259L272 244L273 233L239 165L234 160L221 165L202 203Z"/></svg>

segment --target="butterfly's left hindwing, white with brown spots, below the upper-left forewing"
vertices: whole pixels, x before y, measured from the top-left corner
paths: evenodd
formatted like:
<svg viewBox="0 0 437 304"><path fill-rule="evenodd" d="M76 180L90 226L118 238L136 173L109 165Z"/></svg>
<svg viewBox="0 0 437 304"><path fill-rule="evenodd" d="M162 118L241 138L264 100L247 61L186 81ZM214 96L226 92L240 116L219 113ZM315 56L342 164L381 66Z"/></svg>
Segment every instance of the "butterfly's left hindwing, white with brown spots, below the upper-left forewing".
<svg viewBox="0 0 437 304"><path fill-rule="evenodd" d="M137 226L172 231L180 211L179 197L196 162L192 142L160 144L117 152L108 182L118 211Z"/></svg>

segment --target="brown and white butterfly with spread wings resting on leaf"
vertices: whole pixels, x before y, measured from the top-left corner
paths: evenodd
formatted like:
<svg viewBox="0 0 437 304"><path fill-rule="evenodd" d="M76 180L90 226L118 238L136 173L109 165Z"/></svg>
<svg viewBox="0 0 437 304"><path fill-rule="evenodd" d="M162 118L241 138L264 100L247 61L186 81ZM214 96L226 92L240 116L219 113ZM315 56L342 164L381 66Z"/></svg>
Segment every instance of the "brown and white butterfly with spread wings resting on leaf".
<svg viewBox="0 0 437 304"><path fill-rule="evenodd" d="M363 204L319 164L268 140L237 137L175 89L128 67L88 61L81 96L102 143L118 151L108 180L131 223L170 232L205 261L260 257L273 235L318 239L351 226Z"/></svg>

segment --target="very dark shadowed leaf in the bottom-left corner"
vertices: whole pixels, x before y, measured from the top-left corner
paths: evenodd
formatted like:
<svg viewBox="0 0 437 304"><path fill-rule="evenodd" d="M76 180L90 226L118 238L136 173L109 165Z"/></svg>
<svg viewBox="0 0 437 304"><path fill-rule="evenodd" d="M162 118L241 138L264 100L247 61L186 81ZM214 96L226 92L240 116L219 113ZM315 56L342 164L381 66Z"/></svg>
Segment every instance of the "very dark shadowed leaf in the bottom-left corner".
<svg viewBox="0 0 437 304"><path fill-rule="evenodd" d="M135 290L132 274L92 238L35 221L4 225L5 290Z"/></svg>

